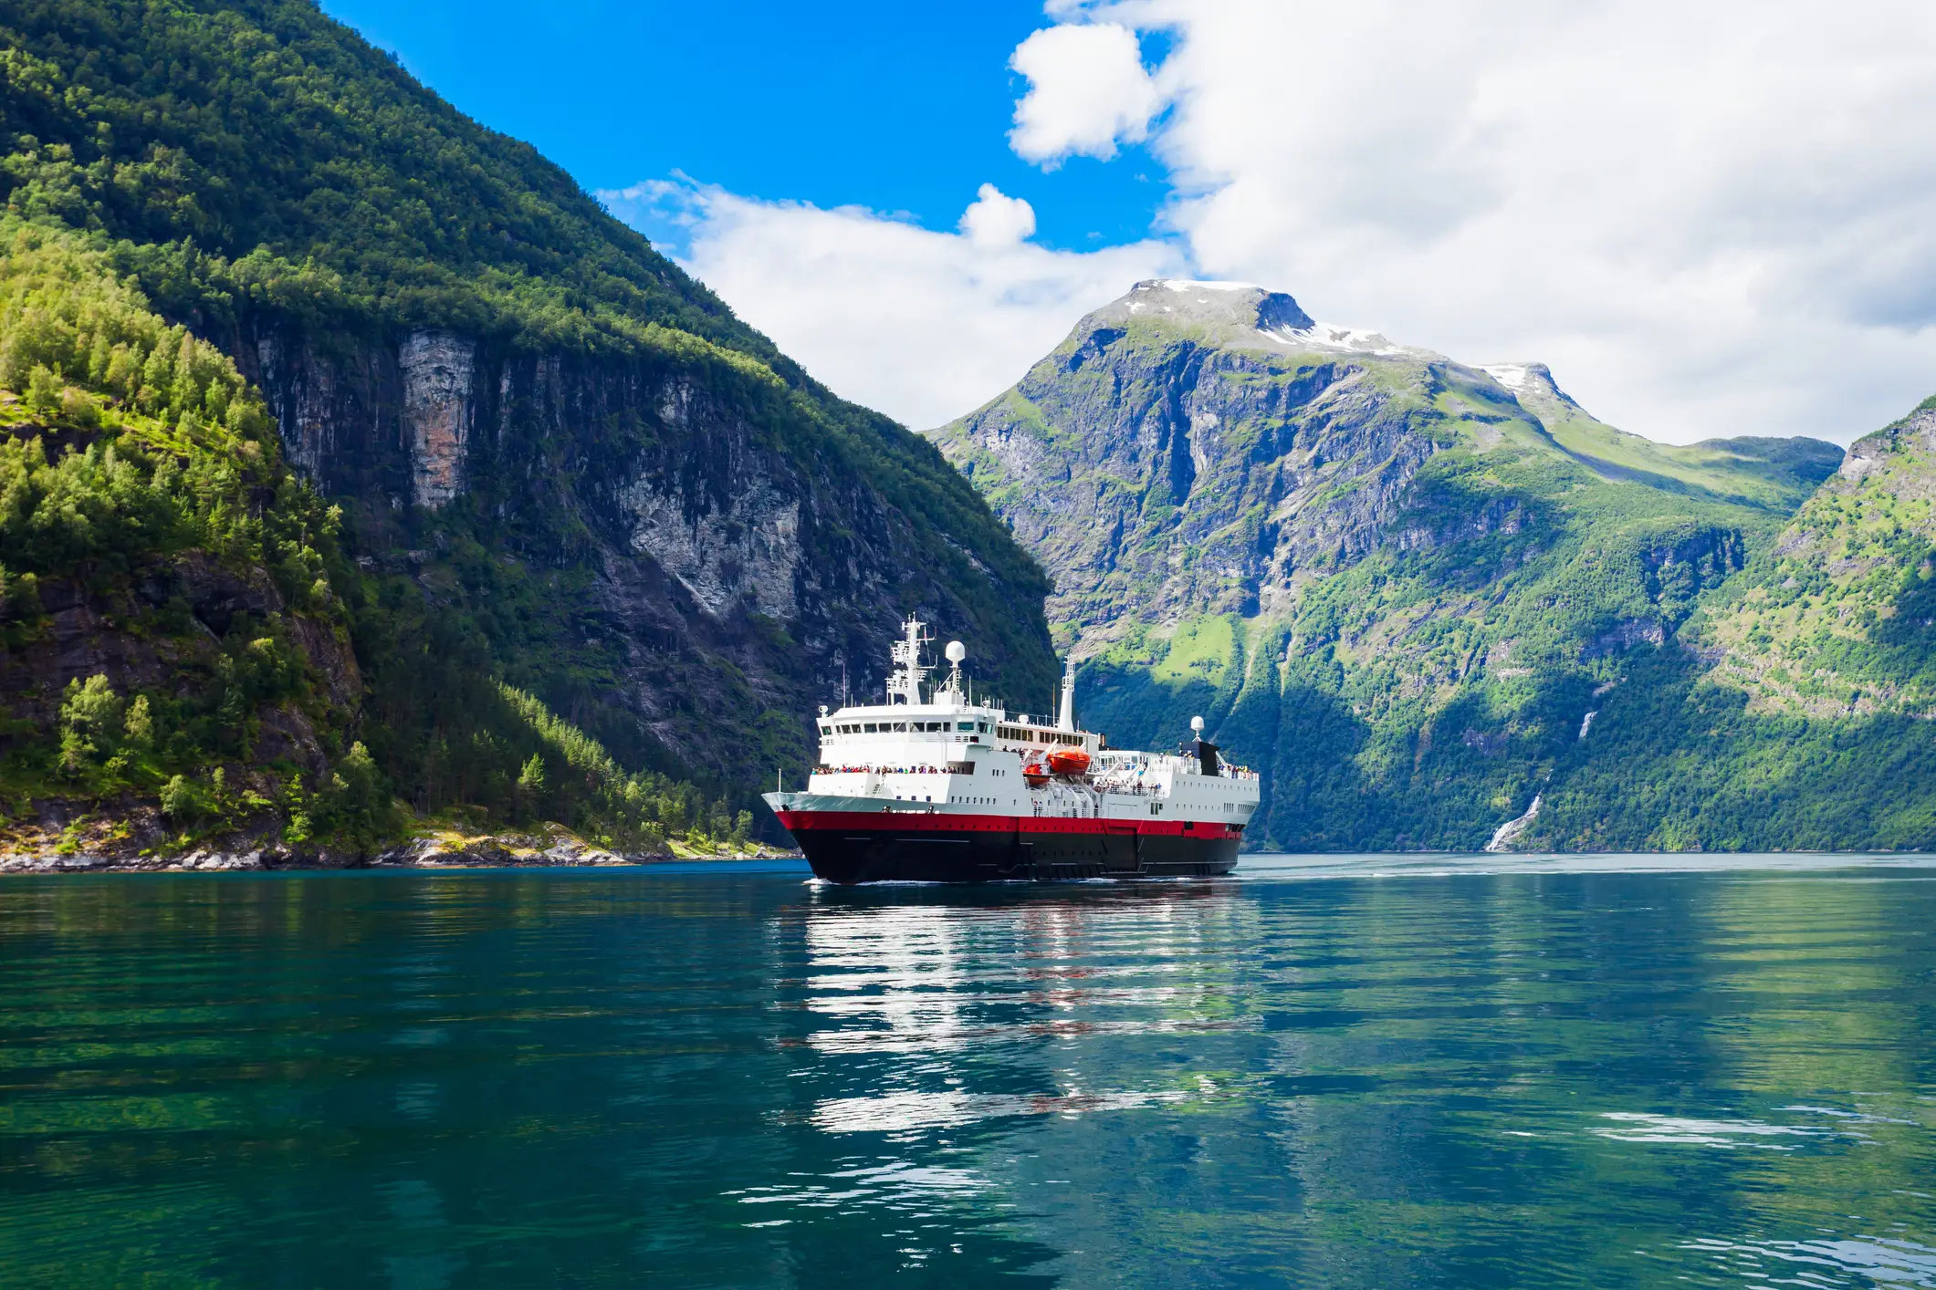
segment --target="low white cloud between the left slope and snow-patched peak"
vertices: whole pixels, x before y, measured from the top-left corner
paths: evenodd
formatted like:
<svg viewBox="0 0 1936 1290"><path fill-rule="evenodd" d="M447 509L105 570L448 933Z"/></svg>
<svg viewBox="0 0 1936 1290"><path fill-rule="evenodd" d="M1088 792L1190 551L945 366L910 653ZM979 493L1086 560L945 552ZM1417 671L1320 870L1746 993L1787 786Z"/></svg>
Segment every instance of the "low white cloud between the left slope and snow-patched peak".
<svg viewBox="0 0 1936 1290"><path fill-rule="evenodd" d="M649 234L685 240L685 269L815 379L916 429L987 402L1082 313L1183 267L1162 242L1086 253L1034 246L1034 211L991 184L962 232L697 184L598 197Z"/></svg>

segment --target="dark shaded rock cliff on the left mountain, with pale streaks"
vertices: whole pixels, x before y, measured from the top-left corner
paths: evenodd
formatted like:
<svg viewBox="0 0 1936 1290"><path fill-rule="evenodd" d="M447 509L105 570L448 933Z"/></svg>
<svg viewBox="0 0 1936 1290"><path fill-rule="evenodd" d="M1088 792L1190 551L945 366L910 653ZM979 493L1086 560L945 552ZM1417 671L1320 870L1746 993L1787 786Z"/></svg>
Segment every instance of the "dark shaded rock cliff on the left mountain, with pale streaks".
<svg viewBox="0 0 1936 1290"><path fill-rule="evenodd" d="M447 329L350 340L275 315L232 344L288 460L356 507L366 565L445 594L461 528L538 572L589 572L558 613L602 677L554 698L668 770L798 774L813 704L838 702L842 677L854 692L885 679L908 611L966 638L989 683L1034 692L1053 675L1034 571L1003 580L978 538L885 497L879 468L892 484L896 464L869 472L865 443L831 443L819 408L776 381ZM523 665L544 689L544 660Z"/></svg>

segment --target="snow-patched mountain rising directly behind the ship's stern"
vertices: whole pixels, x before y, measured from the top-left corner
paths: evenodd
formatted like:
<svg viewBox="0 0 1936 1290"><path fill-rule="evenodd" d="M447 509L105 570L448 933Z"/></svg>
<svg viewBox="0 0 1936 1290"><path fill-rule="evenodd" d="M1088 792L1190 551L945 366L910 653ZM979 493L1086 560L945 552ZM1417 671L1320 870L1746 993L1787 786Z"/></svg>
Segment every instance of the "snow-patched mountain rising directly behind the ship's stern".
<svg viewBox="0 0 1936 1290"><path fill-rule="evenodd" d="M1162 743L1200 712L1287 849L1483 845L1841 462L1653 445L1537 364L1179 280L931 437L1055 580L1086 716Z"/></svg>

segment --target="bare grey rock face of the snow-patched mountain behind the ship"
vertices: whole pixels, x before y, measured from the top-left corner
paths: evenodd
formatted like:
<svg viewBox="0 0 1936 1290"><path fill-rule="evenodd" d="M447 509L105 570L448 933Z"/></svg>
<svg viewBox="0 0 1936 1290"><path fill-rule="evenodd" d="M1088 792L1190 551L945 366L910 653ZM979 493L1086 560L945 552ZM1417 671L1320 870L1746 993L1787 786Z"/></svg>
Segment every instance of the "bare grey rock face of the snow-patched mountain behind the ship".
<svg viewBox="0 0 1936 1290"><path fill-rule="evenodd" d="M1384 542L1452 441L1438 424L1460 420L1435 400L1491 385L1315 327L1278 292L1142 282L1009 395L937 431L1053 572L1051 619L1088 652L1115 625L1287 607L1301 580ZM1537 433L1493 396L1479 395L1477 433Z"/></svg>

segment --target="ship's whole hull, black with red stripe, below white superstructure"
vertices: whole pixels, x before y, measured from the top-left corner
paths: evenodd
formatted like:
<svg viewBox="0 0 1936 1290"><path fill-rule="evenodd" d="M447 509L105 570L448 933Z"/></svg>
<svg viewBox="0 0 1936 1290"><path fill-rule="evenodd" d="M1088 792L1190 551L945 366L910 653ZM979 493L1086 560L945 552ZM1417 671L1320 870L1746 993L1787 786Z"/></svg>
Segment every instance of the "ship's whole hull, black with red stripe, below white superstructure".
<svg viewBox="0 0 1936 1290"><path fill-rule="evenodd" d="M943 812L780 810L815 876L860 882L1067 882L1210 878L1237 865L1243 830Z"/></svg>

